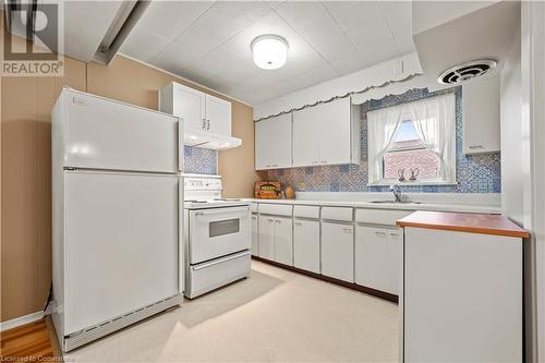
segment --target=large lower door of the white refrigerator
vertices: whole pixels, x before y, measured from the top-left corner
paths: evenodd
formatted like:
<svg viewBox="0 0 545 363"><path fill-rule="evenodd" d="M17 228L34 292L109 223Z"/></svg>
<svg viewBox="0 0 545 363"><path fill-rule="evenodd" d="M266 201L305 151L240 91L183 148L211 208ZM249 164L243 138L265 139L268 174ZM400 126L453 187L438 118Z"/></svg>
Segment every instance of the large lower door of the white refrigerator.
<svg viewBox="0 0 545 363"><path fill-rule="evenodd" d="M181 292L179 178L65 171L64 180L64 335Z"/></svg>

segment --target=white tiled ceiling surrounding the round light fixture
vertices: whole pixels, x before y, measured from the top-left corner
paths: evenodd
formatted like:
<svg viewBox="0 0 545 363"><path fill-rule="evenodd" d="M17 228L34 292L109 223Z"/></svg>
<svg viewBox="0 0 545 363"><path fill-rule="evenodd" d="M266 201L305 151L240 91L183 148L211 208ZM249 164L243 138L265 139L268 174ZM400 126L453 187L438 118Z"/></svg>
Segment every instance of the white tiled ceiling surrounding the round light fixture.
<svg viewBox="0 0 545 363"><path fill-rule="evenodd" d="M412 51L411 16L399 2L155 1L122 52L258 104ZM274 71L250 49L269 33L289 43Z"/></svg>

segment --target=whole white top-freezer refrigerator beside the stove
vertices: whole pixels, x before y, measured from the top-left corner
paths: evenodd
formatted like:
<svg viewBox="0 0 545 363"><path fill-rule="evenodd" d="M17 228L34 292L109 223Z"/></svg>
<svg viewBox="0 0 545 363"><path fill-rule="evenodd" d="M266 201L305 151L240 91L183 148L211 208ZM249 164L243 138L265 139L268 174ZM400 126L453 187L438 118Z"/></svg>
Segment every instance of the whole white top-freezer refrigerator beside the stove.
<svg viewBox="0 0 545 363"><path fill-rule="evenodd" d="M53 323L63 351L182 302L182 121L64 88L52 111Z"/></svg>

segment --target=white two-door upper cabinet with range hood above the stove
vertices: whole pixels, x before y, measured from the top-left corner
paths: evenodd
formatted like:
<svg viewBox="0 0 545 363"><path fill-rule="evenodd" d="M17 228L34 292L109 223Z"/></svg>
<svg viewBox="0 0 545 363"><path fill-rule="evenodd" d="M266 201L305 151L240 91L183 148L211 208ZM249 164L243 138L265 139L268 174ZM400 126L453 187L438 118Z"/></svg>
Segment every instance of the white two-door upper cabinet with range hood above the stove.
<svg viewBox="0 0 545 363"><path fill-rule="evenodd" d="M231 102L170 83L159 89L159 110L183 119L184 144L213 149L239 146L231 137Z"/></svg>

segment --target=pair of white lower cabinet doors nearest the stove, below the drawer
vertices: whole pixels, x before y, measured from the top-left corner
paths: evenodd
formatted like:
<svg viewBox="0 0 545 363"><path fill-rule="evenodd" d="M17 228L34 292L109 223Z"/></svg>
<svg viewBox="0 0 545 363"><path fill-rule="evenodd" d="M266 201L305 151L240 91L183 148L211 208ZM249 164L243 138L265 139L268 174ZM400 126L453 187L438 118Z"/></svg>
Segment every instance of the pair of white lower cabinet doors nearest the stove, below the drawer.
<svg viewBox="0 0 545 363"><path fill-rule="evenodd" d="M293 265L293 238L291 217L258 217L259 257Z"/></svg>

